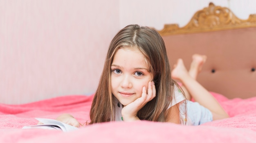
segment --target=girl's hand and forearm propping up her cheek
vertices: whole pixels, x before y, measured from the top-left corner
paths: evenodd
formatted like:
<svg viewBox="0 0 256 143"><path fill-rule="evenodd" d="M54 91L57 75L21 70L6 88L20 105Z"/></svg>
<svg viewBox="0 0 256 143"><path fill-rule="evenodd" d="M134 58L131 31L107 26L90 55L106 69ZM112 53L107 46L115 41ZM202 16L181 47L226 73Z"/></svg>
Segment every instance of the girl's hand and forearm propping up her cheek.
<svg viewBox="0 0 256 143"><path fill-rule="evenodd" d="M122 117L124 121L135 121L139 120L137 117L138 111L146 105L150 100L155 98L156 90L155 83L153 81L148 82L148 92L146 87L142 88L142 95L140 98L137 98L134 102L126 105L122 109Z"/></svg>

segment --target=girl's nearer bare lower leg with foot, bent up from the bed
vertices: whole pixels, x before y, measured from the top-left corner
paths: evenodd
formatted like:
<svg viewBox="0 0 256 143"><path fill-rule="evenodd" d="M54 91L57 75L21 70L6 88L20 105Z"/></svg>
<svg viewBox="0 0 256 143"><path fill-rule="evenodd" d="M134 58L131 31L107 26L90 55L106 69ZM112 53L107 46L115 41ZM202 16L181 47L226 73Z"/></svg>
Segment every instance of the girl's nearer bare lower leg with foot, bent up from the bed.
<svg viewBox="0 0 256 143"><path fill-rule="evenodd" d="M177 65L172 71L172 77L182 82L196 102L211 111L213 120L229 117L211 93L190 76L182 59L178 59Z"/></svg>

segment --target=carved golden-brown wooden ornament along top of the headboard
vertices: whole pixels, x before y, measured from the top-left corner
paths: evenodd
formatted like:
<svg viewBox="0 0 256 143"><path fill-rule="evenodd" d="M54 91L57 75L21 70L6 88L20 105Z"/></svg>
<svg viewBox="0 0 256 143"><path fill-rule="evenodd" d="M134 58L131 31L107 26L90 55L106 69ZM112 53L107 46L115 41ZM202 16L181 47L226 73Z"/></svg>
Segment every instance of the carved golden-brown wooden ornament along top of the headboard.
<svg viewBox="0 0 256 143"><path fill-rule="evenodd" d="M186 26L180 28L177 24L165 24L158 32L164 36L249 27L256 27L256 14L249 15L247 20L241 20L230 9L210 2L209 7L197 11Z"/></svg>

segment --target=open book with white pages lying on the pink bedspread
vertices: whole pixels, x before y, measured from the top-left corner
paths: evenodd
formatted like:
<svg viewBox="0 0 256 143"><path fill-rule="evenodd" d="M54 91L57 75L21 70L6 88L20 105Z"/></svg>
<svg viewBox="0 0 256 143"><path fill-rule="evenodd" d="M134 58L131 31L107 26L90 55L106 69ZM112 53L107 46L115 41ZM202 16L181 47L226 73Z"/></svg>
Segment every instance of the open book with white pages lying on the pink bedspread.
<svg viewBox="0 0 256 143"><path fill-rule="evenodd" d="M41 129L49 129L49 130L62 130L63 132L78 129L74 126L71 126L69 124L65 124L61 121L57 121L57 120L54 120L54 119L45 119L45 118L35 118L35 119L42 122L43 124L24 126L22 129L41 128Z"/></svg>

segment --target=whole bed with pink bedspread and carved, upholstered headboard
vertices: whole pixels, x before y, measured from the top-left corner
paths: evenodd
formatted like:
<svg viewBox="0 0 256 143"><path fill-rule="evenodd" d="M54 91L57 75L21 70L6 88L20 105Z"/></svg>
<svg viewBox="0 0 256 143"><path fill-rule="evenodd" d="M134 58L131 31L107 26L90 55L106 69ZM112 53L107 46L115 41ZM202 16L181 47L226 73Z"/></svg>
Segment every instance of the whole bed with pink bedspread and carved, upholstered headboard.
<svg viewBox="0 0 256 143"><path fill-rule="evenodd" d="M79 122L89 119L92 95L65 95L21 105L0 104L1 143L255 143L256 142L256 15L238 19L229 9L209 4L180 28L159 30L170 63L183 58L189 67L194 53L207 55L198 81L220 102L230 118L200 126L150 121L109 122L79 130L21 129L37 124L35 117L54 119L70 113Z"/></svg>

